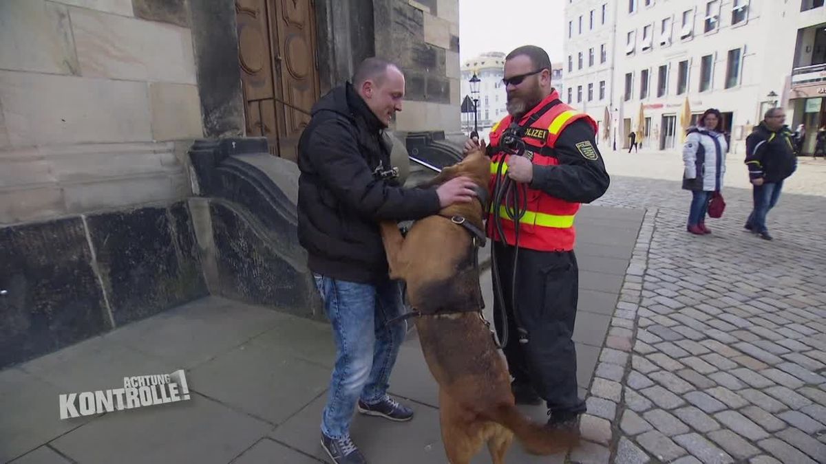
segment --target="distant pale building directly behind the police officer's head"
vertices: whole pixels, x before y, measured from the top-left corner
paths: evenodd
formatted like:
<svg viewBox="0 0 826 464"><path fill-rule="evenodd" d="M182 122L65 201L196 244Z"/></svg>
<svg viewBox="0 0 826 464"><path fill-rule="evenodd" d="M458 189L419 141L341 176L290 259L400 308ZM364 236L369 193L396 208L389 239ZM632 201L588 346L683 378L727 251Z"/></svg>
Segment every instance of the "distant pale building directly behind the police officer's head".
<svg viewBox="0 0 826 464"><path fill-rule="evenodd" d="M505 76L505 56L501 52L487 52L462 63L462 100L473 98L470 92L470 79L473 74L481 79L479 83L478 126L479 133L487 140L487 133L491 126L508 114L506 109L507 94L502 78ZM563 64L551 64L551 85L563 95ZM473 130L473 114L463 113L462 129L464 132Z"/></svg>

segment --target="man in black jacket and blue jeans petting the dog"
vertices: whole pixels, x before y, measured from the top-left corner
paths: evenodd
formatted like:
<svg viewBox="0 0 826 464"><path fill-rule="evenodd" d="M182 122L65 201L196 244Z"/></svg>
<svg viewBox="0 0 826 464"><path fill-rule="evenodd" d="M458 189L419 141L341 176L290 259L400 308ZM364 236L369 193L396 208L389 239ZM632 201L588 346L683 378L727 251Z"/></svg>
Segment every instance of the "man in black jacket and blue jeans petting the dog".
<svg viewBox="0 0 826 464"><path fill-rule="evenodd" d="M377 221L420 219L475 195L469 178L437 189L394 182L391 147L382 135L404 94L404 75L395 65L366 59L352 84L316 103L298 144L298 239L335 335L321 443L337 463L365 462L349 438L357 402L363 414L396 421L413 416L387 395L406 323L387 324L404 306L398 283L388 277Z"/></svg>

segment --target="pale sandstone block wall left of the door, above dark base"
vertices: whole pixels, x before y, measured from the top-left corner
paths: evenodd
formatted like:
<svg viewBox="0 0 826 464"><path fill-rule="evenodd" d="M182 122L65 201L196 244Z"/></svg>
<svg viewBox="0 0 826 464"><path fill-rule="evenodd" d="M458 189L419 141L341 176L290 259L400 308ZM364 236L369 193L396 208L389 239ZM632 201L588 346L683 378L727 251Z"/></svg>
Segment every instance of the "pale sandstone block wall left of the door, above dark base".
<svg viewBox="0 0 826 464"><path fill-rule="evenodd" d="M0 224L188 196L202 136L184 0L0 2Z"/></svg>

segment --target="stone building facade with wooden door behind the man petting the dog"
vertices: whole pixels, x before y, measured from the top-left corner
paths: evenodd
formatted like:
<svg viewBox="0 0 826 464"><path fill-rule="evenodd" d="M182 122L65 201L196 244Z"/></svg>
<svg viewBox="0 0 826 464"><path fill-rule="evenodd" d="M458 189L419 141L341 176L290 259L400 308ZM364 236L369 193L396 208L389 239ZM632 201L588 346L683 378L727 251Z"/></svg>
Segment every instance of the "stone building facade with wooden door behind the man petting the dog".
<svg viewBox="0 0 826 464"><path fill-rule="evenodd" d="M458 0L0 2L0 367L210 293L318 317L292 160L373 55L407 75L396 139L458 133Z"/></svg>

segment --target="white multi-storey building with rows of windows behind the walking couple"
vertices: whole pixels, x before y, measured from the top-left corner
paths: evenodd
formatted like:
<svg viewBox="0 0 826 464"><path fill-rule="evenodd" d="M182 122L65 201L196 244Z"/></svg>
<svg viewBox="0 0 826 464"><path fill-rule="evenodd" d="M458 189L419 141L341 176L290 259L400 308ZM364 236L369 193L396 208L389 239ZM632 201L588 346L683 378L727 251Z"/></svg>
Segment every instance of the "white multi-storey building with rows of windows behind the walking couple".
<svg viewBox="0 0 826 464"><path fill-rule="evenodd" d="M714 107L723 113L732 153L743 154L752 126L774 105L786 108L792 129L806 124L804 151L814 148L814 131L826 122L824 0L569 0L565 53L572 73L565 84L572 104L601 122L587 100L587 85L601 81L601 69L587 64L591 47L605 40L604 32L590 29L590 12L600 17L602 4L609 18L616 8L608 27L616 47L607 63L613 63L609 102L617 148L627 148L634 131L644 148L678 149L686 123ZM691 115L687 121L683 113Z"/></svg>

